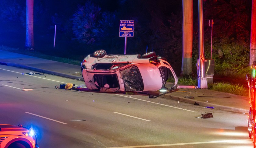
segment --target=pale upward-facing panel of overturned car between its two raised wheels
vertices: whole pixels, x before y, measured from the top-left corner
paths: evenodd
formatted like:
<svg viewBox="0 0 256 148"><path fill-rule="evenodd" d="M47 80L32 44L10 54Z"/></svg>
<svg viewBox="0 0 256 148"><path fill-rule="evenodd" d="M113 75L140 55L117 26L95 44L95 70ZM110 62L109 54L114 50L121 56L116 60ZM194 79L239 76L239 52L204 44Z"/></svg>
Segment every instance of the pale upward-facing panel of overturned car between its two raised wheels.
<svg viewBox="0 0 256 148"><path fill-rule="evenodd" d="M132 63L138 55L105 55L102 58L96 58L94 63Z"/></svg>

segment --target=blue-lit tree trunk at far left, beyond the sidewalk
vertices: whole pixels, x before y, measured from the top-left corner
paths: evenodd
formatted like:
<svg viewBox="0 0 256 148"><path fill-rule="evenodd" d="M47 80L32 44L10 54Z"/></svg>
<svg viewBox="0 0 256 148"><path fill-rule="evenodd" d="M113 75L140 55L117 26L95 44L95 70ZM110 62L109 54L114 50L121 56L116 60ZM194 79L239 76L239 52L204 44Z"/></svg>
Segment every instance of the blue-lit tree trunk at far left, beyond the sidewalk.
<svg viewBox="0 0 256 148"><path fill-rule="evenodd" d="M26 0L25 49L34 50L34 0Z"/></svg>

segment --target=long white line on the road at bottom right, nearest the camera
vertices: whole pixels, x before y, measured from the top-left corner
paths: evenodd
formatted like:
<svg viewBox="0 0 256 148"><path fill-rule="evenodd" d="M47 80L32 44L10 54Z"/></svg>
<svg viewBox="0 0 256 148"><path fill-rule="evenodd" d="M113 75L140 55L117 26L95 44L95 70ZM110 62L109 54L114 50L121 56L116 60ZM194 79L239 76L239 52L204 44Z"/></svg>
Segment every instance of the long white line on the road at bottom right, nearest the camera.
<svg viewBox="0 0 256 148"><path fill-rule="evenodd" d="M136 148L136 147L156 147L156 146L180 146L189 144L206 144L206 143L237 143L241 141L251 141L251 139L238 139L238 140L221 140L221 141L206 141L206 142L191 142L191 143L173 143L173 144L158 144L158 145L146 145L146 146L120 146L120 147L108 147L108 148Z"/></svg>

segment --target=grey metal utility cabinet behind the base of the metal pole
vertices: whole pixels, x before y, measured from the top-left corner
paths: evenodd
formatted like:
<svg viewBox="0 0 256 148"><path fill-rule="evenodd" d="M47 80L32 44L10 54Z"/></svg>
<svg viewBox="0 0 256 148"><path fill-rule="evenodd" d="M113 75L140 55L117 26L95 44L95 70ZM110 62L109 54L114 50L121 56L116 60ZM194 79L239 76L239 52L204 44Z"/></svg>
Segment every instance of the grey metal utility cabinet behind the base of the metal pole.
<svg viewBox="0 0 256 148"><path fill-rule="evenodd" d="M199 59L197 59L197 76L199 76ZM204 74L207 78L207 83L213 83L214 76L214 59L204 60Z"/></svg>

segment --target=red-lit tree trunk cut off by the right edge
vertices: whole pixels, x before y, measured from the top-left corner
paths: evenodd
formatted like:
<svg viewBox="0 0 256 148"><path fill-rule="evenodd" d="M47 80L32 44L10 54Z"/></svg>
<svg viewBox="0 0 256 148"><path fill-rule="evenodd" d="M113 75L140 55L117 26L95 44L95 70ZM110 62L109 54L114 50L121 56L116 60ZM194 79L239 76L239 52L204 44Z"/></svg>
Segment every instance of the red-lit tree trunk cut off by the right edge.
<svg viewBox="0 0 256 148"><path fill-rule="evenodd" d="M256 2L252 0L251 5L251 44L250 44L250 63L251 66L253 61L255 61L256 55Z"/></svg>

